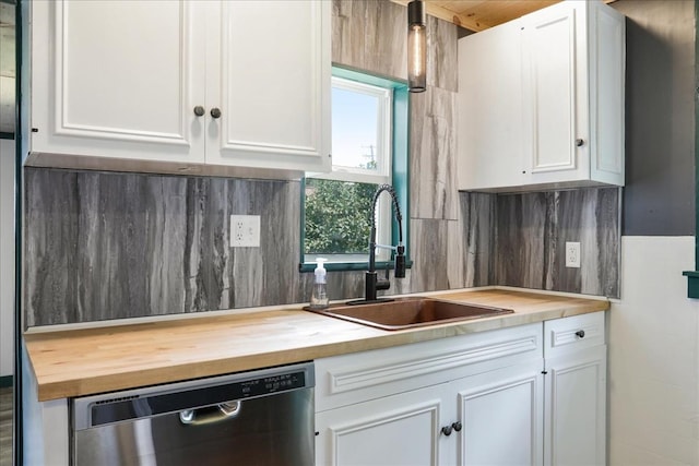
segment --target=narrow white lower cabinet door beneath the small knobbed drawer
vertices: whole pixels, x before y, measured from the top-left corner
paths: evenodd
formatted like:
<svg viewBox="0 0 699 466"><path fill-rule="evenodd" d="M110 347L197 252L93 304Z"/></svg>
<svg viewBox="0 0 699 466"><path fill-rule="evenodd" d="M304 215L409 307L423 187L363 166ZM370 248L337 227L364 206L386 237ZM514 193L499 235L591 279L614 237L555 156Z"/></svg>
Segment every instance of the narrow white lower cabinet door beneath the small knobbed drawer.
<svg viewBox="0 0 699 466"><path fill-rule="evenodd" d="M606 459L606 345L546 359L547 466L602 466Z"/></svg>

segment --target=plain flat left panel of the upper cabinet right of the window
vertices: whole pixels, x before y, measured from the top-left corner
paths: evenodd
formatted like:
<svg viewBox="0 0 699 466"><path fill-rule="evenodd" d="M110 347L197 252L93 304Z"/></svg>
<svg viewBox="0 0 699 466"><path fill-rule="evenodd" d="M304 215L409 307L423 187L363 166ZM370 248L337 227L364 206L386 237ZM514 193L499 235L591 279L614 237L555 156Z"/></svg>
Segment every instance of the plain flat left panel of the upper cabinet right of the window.
<svg viewBox="0 0 699 466"><path fill-rule="evenodd" d="M459 40L459 189L522 182L520 28L511 21Z"/></svg>

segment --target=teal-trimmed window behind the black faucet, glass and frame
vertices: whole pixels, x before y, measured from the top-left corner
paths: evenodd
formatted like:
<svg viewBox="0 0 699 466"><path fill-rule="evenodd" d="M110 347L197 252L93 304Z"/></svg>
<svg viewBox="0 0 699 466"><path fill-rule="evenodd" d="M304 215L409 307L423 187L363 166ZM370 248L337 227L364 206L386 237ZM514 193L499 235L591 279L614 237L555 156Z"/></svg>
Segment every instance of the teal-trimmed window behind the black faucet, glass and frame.
<svg viewBox="0 0 699 466"><path fill-rule="evenodd" d="M301 270L328 259L329 270L366 267L374 193L393 184L407 242L407 88L405 84L340 68L332 77L332 154L329 174L308 177L301 192ZM377 206L377 242L393 244L390 196ZM377 262L391 259L377 250Z"/></svg>

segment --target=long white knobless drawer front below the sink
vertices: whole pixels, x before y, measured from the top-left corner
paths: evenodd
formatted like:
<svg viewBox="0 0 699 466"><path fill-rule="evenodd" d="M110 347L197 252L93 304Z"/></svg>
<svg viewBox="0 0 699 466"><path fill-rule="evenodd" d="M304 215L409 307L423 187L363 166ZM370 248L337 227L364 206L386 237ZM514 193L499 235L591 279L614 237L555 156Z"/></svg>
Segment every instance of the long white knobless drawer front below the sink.
<svg viewBox="0 0 699 466"><path fill-rule="evenodd" d="M541 360L542 325L459 335L316 360L316 411Z"/></svg>

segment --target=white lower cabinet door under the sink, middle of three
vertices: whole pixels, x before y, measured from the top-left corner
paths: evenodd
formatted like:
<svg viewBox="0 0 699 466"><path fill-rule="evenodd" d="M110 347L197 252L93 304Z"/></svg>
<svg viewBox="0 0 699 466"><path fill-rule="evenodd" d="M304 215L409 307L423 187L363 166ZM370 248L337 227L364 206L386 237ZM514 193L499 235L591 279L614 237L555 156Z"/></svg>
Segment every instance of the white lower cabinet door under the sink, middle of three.
<svg viewBox="0 0 699 466"><path fill-rule="evenodd" d="M459 465L542 465L543 361L451 383L458 397Z"/></svg>

